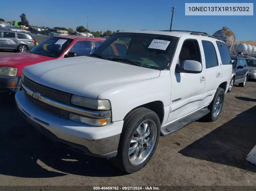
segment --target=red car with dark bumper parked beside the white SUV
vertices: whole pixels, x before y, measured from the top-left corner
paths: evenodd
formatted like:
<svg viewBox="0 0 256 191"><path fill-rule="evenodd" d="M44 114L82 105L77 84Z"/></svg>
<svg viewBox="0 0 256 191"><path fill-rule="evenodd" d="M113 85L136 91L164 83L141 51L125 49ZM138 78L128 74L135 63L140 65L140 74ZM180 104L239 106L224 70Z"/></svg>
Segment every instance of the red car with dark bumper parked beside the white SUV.
<svg viewBox="0 0 256 191"><path fill-rule="evenodd" d="M52 36L28 52L0 56L0 93L20 90L22 69L26 66L71 56L88 56L104 38ZM74 54L75 53L75 54Z"/></svg>

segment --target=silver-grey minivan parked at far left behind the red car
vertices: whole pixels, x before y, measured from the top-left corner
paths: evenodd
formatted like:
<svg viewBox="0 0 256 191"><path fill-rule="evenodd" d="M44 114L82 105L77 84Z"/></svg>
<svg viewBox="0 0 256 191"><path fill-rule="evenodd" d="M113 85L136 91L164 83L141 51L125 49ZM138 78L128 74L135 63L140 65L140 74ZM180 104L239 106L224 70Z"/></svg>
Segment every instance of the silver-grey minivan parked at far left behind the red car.
<svg viewBox="0 0 256 191"><path fill-rule="evenodd" d="M0 50L26 52L36 46L36 41L28 33L0 30Z"/></svg>

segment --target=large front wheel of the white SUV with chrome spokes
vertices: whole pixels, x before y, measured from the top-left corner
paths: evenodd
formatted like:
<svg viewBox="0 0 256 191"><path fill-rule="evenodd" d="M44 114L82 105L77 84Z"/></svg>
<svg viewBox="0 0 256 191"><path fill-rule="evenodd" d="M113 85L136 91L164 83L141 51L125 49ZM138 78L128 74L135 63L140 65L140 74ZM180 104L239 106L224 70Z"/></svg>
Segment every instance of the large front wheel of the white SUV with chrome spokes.
<svg viewBox="0 0 256 191"><path fill-rule="evenodd" d="M146 123L149 124L145 128L145 135L148 134L148 136L145 136L142 138L142 140L139 140L140 136L138 131L143 131L143 124ZM136 131L136 129L138 129L138 131ZM143 132L141 135L143 135ZM124 126L120 136L117 156L110 158L110 161L117 168L126 173L137 172L138 170L141 170L143 167L145 167L153 156L158 145L159 137L160 120L158 115L154 111L144 107L132 110L127 114L124 120ZM132 141L133 143L131 143ZM141 146L141 144L143 146ZM146 147L146 145L151 146ZM129 150L131 151L130 154ZM142 153L141 151L144 152ZM140 156L141 158L136 156Z"/></svg>

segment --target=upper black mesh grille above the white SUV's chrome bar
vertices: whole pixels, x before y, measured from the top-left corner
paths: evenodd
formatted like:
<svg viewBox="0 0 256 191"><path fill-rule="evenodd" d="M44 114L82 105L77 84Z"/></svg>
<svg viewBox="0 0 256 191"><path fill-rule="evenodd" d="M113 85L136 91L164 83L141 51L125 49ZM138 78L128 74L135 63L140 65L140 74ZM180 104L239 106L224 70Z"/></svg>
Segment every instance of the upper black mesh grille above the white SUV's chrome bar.
<svg viewBox="0 0 256 191"><path fill-rule="evenodd" d="M24 84L32 91L38 92L43 96L46 96L55 100L60 100L65 102L68 101L68 94L58 93L55 89L52 89L52 88L48 88L48 87L44 88L42 85L28 79L27 77L24 77Z"/></svg>

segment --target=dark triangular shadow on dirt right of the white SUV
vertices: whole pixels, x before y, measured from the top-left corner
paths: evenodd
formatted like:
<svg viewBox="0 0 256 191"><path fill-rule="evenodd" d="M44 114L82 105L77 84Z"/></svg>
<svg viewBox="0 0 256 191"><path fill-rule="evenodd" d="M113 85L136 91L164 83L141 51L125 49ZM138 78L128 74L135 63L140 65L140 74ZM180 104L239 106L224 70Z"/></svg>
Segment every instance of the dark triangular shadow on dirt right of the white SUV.
<svg viewBox="0 0 256 191"><path fill-rule="evenodd" d="M256 106L179 151L187 157L256 172L246 156L256 144Z"/></svg>

